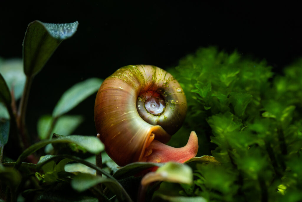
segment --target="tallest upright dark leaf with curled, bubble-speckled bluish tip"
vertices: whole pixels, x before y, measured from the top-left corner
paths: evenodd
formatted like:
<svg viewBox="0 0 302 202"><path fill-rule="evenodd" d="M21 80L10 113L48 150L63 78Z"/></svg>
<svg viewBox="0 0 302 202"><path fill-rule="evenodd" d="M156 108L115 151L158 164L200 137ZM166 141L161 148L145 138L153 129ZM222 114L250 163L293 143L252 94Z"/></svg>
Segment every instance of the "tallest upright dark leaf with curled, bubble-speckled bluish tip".
<svg viewBox="0 0 302 202"><path fill-rule="evenodd" d="M59 44L76 32L78 24L78 21L65 24L43 23L37 20L31 22L23 41L25 74L37 74Z"/></svg>

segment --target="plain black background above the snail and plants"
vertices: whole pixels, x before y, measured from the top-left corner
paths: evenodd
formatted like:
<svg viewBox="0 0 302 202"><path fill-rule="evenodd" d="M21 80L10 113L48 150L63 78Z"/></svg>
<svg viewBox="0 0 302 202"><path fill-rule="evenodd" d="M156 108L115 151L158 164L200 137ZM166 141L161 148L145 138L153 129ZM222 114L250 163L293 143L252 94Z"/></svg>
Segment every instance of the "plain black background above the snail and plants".
<svg viewBox="0 0 302 202"><path fill-rule="evenodd" d="M40 1L42 2L42 1ZM173 67L199 47L237 50L243 57L266 59L276 73L302 56L298 5L204 1L49 1L1 2L0 56L21 58L27 25L34 21L79 21L76 34L63 41L34 78L27 110L30 133L51 114L73 84L106 78L130 64ZM76 134L94 135L91 96L69 114L84 114Z"/></svg>

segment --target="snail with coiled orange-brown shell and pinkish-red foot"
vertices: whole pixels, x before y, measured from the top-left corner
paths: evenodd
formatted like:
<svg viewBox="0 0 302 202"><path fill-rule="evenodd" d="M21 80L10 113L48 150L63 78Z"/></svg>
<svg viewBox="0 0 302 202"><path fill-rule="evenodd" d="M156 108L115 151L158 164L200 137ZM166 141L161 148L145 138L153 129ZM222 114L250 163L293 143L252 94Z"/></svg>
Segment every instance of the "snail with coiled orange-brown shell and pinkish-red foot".
<svg viewBox="0 0 302 202"><path fill-rule="evenodd" d="M119 166L136 162L183 163L195 157L197 135L181 148L166 145L184 122L187 101L165 70L128 65L106 78L95 99L95 127L105 151Z"/></svg>

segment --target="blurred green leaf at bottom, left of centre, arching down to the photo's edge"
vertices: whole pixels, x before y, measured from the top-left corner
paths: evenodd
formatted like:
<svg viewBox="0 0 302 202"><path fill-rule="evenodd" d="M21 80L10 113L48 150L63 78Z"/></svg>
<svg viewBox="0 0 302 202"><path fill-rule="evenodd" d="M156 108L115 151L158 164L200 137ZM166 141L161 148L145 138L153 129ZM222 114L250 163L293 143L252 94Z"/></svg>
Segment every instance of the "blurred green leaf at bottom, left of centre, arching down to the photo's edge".
<svg viewBox="0 0 302 202"><path fill-rule="evenodd" d="M119 201L132 201L128 194L124 195L124 193L126 193L124 188L116 180L87 173L81 173L71 180L72 188L80 192L85 191L98 183L105 184L108 189L117 195Z"/></svg>

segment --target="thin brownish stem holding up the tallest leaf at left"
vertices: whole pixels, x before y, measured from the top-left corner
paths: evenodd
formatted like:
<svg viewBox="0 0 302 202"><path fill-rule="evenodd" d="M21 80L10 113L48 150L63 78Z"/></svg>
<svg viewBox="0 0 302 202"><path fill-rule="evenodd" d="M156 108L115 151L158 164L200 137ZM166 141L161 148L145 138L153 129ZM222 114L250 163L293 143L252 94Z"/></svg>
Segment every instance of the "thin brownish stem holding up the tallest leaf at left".
<svg viewBox="0 0 302 202"><path fill-rule="evenodd" d="M26 76L24 91L19 105L19 111L17 116L17 125L26 148L29 146L29 137L25 131L25 114L32 81L33 76Z"/></svg>

